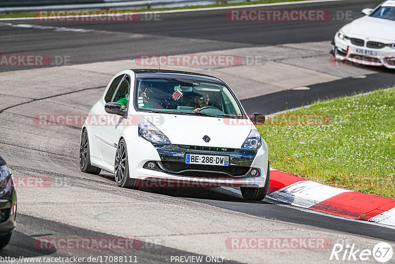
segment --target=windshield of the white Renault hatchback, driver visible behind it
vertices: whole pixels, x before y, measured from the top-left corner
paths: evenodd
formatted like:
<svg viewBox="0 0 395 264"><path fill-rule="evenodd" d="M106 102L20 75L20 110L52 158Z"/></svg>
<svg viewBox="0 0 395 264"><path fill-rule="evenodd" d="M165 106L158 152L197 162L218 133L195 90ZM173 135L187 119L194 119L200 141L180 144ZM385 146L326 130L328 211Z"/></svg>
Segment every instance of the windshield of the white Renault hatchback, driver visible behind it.
<svg viewBox="0 0 395 264"><path fill-rule="evenodd" d="M140 110L242 117L229 88L191 79L141 78L137 81L137 107Z"/></svg>

